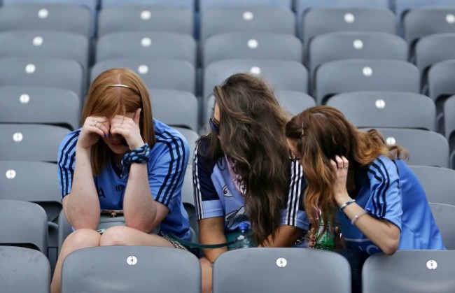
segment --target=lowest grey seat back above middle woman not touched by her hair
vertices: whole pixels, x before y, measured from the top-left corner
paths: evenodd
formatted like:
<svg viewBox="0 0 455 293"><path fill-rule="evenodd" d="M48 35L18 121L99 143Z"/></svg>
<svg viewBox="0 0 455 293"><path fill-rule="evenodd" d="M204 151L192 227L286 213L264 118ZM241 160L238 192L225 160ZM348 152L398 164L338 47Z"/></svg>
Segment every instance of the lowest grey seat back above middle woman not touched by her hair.
<svg viewBox="0 0 455 293"><path fill-rule="evenodd" d="M216 34L202 45L202 66L223 59L280 59L302 62L302 42L291 34L256 31Z"/></svg>

